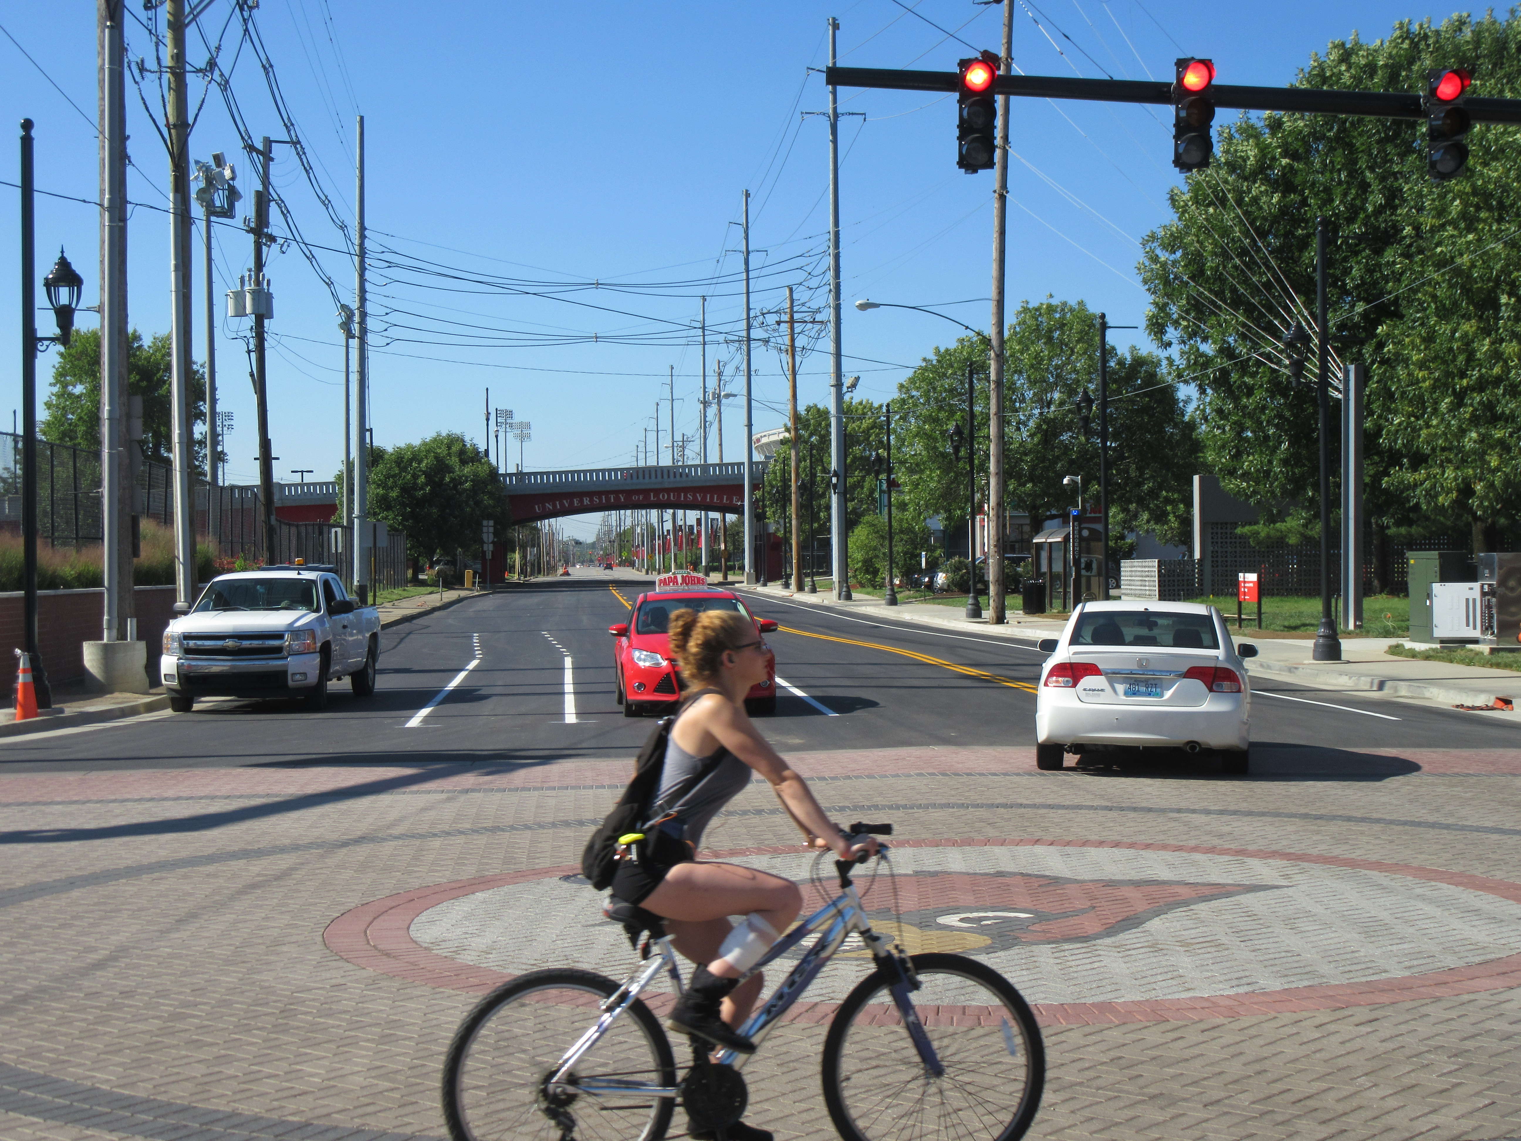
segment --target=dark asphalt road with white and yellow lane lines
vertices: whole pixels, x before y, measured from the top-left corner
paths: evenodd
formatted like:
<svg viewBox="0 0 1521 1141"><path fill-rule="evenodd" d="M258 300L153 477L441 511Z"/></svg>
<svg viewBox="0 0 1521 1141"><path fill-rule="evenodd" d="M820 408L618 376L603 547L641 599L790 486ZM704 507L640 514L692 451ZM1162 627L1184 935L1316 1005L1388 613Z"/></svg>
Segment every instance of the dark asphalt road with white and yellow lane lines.
<svg viewBox="0 0 1521 1141"><path fill-rule="evenodd" d="M651 721L625 718L613 701L607 627L648 586L627 574L578 572L467 599L383 634L371 698L338 683L321 714L281 701L207 701L189 715L14 738L0 744L0 771L630 758ZM791 689L779 689L776 717L762 721L782 753L1034 742L1043 654L1033 645L771 596L757 596L754 610L782 622L768 640ZM1247 779L1261 780L1378 779L1411 770L1398 756L1405 748L1518 741L1513 726L1492 717L1261 677L1252 714ZM1377 753L1384 748L1390 756ZM1214 777L1217 765L1177 758L1124 771Z"/></svg>

